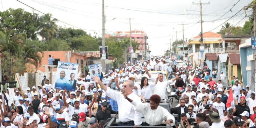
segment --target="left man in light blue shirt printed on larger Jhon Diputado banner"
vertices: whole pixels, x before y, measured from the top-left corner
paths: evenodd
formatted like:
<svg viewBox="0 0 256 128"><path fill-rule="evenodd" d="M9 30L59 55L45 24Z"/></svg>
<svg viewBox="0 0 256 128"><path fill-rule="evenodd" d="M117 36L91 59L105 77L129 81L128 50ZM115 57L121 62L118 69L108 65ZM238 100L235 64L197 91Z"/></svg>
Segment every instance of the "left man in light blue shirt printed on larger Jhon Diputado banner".
<svg viewBox="0 0 256 128"><path fill-rule="evenodd" d="M60 72L60 78L57 79L55 82L55 88L56 89L65 89L70 91L75 91L75 89L72 89L72 85L68 79L65 78L66 74L65 71Z"/></svg>

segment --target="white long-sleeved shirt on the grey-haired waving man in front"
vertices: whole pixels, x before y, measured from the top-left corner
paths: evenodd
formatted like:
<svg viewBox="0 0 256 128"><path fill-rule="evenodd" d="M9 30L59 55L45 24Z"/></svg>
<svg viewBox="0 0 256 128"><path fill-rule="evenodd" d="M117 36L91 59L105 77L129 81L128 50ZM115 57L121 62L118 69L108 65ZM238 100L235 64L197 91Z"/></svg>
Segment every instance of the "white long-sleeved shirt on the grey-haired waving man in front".
<svg viewBox="0 0 256 128"><path fill-rule="evenodd" d="M141 125L142 114L135 111L134 105L125 99L123 94L112 90L110 87L107 88L105 94L117 102L120 122L129 122L133 120L135 125ZM128 97L133 101L141 102L140 97L134 93L131 93Z"/></svg>

